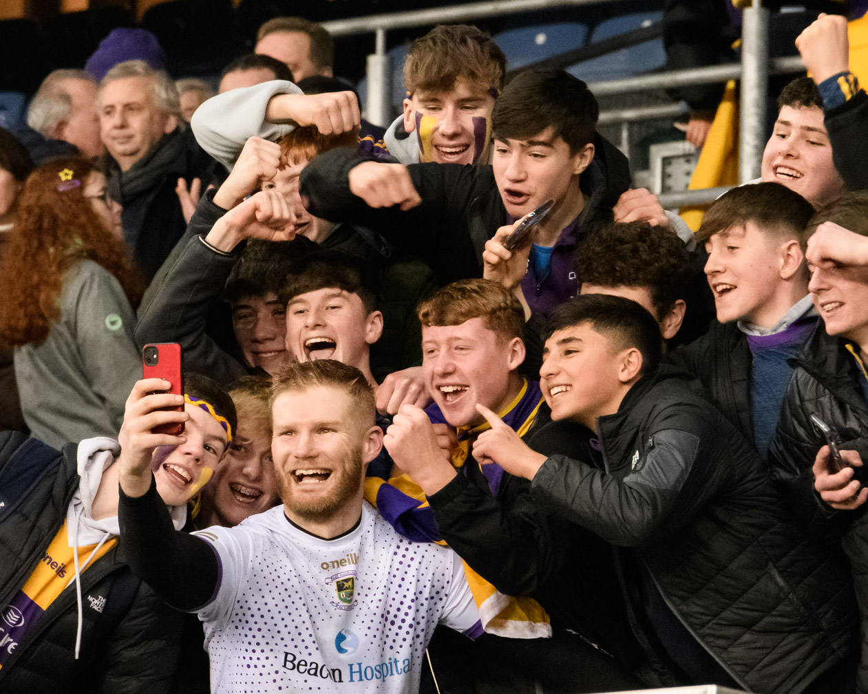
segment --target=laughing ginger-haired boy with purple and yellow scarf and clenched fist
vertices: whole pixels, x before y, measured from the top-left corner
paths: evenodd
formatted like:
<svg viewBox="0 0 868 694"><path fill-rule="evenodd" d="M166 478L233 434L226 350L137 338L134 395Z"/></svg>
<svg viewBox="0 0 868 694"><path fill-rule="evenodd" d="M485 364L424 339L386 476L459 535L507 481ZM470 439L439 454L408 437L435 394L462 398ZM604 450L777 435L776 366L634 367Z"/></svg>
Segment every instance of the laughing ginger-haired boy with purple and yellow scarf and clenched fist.
<svg viewBox="0 0 868 694"><path fill-rule="evenodd" d="M510 544L511 536L499 534L499 527L484 514L488 504L502 505L504 509L521 508L518 513L533 519L536 532L561 536L565 532L562 523L552 523L544 509L523 504L528 493L525 481L505 474L496 463L480 465L472 455L473 442L489 429L477 403L499 413L520 436L529 435L542 403L539 384L523 377L518 370L524 360L521 304L494 282L465 279L437 291L420 304L418 312L422 323L422 369L434 402L424 410L404 405L398 411L384 437L384 445L397 469L388 481L369 478L365 498L411 540L441 540L417 479L417 475L423 479L429 469L439 470L450 478L459 478L464 488L469 488L470 507L482 512L475 516L470 532L477 542L485 543L484 538L495 534L497 542ZM575 550L573 556L581 557L582 564L589 562L595 566L593 609L552 602L551 606L560 614L569 617L556 620L553 615L551 628L536 600L507 599L507 594L514 593L496 593L494 586L469 570L470 587L483 625L490 633L478 645L462 642L450 647L444 638L435 642L432 657L436 661L438 657L444 659L444 665L450 668L466 668L461 677L470 681L488 682L494 678L500 683L501 678L506 678L510 691L534 691L535 681L545 691L614 691L641 686L641 681L629 673L623 662L589 646L589 641L602 643L618 656L633 646L621 601L609 587L615 581L610 573L608 547L601 547L602 543L586 535L572 531L566 534L570 539L565 540L564 547ZM526 538L527 535L522 539ZM556 558L542 559L543 565L563 560L560 552L552 554ZM535 561L528 561L519 553L509 559L503 553L499 557L509 563L513 585L536 584ZM504 564L501 566L506 570ZM572 563L570 566L577 568ZM591 572L582 568L575 573L582 575L575 575L571 583L581 591L579 586L586 585L584 575ZM541 585L534 593L535 599L537 595L545 599L551 595L551 586ZM606 614L605 625L587 619L588 612L594 610ZM582 613L583 619L577 618L577 613ZM573 631L566 631L568 628ZM582 637L576 636L576 632ZM549 635L552 638L538 638Z"/></svg>

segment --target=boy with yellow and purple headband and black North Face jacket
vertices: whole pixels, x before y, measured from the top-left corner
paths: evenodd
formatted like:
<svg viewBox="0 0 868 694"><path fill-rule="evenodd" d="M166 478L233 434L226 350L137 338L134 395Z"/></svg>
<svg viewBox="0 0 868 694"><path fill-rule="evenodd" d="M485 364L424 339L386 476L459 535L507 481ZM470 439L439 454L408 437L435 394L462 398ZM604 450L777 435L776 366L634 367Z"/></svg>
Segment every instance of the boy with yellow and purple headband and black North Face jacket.
<svg viewBox="0 0 868 694"><path fill-rule="evenodd" d="M129 573L118 538L121 461L148 465L181 528L187 501L218 468L236 425L232 400L211 379L187 374L184 396L164 392L169 386L159 378L135 383L118 441L87 439L61 454L3 434L3 691L97 690L107 681L125 691L169 691L180 615ZM183 422L184 434L151 430L171 422Z"/></svg>

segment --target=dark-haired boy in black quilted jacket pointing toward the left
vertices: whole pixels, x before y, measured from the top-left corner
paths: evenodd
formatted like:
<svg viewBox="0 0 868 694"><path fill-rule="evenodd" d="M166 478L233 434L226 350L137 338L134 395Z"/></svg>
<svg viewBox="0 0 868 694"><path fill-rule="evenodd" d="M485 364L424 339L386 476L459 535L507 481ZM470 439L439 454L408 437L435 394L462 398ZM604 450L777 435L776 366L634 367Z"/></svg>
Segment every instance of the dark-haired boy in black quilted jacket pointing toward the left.
<svg viewBox="0 0 868 694"><path fill-rule="evenodd" d="M595 432L603 469L534 452L484 409L492 429L474 445L477 460L531 480L531 501L617 548L636 635L682 682L849 691L855 619L843 566L808 540L733 425L658 366L654 318L628 299L582 296L549 331L541 377L552 418ZM462 482L446 473L411 472L450 546L502 591L510 577L498 553L562 543L535 535L519 545L516 532L510 547L496 534L475 540L486 515L505 527L527 521L496 507L471 513Z"/></svg>

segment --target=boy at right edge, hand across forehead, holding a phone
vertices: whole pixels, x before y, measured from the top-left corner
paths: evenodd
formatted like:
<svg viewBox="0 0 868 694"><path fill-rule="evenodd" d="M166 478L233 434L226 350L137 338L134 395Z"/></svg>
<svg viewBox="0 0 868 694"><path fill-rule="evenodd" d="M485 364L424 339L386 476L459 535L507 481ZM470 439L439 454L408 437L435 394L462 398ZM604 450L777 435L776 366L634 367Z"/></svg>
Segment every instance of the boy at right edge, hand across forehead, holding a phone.
<svg viewBox="0 0 868 694"><path fill-rule="evenodd" d="M830 510L818 503L814 475L817 490L832 507L852 509L865 503L868 493L860 471L862 462L868 460L868 267L858 252L865 244L835 247L842 242L853 246L848 237L856 234L868 236L865 219L868 193L860 191L845 193L819 210L808 225L807 233L812 234L807 252L811 262L808 288L825 330L819 326L794 360L778 430L769 448L773 475L799 503L799 514L839 539L850 560L862 617L858 691L868 691L865 507L853 514L837 514L834 522L826 524L823 521L829 520ZM849 464L836 475L831 475L825 437L813 426L812 415L832 427L841 442L838 448Z"/></svg>

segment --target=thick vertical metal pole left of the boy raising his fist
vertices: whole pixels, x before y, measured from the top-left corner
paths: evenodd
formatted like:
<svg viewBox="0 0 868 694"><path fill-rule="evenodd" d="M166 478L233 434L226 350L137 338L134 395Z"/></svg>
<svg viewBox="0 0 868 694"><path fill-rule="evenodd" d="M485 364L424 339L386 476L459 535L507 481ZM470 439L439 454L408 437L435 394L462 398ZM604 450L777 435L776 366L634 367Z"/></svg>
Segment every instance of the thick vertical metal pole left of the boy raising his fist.
<svg viewBox="0 0 868 694"><path fill-rule="evenodd" d="M766 144L766 102L768 101L769 11L754 0L742 10L741 93L739 131L739 180L759 178L759 163Z"/></svg>

